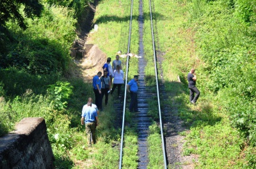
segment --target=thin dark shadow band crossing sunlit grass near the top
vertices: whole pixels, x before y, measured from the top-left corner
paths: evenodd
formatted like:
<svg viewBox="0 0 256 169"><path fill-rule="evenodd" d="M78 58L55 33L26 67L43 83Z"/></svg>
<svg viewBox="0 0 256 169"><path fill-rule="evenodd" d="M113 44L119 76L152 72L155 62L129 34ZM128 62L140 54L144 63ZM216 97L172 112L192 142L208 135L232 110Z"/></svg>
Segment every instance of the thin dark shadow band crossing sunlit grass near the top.
<svg viewBox="0 0 256 169"><path fill-rule="evenodd" d="M145 20L150 20L150 13L143 13ZM138 15L132 15L132 18L138 18ZM156 18L163 18L163 15L161 13L154 13L154 17ZM108 23L108 22L127 22L131 19L130 16L126 17L116 17L115 15L103 15L102 17L97 18L97 21L95 24L100 24L100 23ZM160 19L158 19L160 20Z"/></svg>

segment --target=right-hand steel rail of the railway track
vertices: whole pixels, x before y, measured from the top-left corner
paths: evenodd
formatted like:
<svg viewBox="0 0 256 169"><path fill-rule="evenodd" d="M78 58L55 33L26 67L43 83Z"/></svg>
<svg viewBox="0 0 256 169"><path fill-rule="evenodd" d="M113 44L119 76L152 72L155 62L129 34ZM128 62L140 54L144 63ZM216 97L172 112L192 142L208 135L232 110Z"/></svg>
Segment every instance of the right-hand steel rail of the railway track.
<svg viewBox="0 0 256 169"><path fill-rule="evenodd" d="M163 123L162 123L162 116L161 116L161 108L160 108L160 99L159 99L159 87L158 87L158 78L157 78L157 66L156 66L156 47L155 47L155 40L154 40L154 28L153 28L153 21L152 21L152 10L151 10L151 0L149 0L149 8L150 8L150 20L151 20L151 33L152 33L152 45L154 51L154 62L155 62L155 74L156 74L156 87L157 87L157 101L158 101L158 110L159 110L159 121L161 126L161 138L162 138L162 146L163 146L163 154L164 154L164 168L167 168L166 164L166 153L165 153L165 145L164 145L164 135L163 135Z"/></svg>

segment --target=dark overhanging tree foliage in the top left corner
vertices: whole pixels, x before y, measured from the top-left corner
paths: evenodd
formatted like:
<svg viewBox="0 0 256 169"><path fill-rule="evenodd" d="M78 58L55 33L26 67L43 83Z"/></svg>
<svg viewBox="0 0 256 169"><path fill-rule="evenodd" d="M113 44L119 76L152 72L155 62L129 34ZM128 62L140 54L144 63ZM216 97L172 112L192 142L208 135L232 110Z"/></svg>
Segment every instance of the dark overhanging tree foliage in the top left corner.
<svg viewBox="0 0 256 169"><path fill-rule="evenodd" d="M20 13L20 8L24 5L24 14ZM39 0L1 0L0 1L0 27L8 20L16 20L20 27L26 29L24 17L39 17L43 10Z"/></svg>

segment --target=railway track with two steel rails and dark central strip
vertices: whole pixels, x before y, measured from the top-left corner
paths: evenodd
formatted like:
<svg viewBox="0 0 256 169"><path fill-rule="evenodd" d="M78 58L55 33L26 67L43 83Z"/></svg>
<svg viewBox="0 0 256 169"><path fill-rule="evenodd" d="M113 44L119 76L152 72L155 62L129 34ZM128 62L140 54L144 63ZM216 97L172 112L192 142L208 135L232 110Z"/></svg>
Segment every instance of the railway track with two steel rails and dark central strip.
<svg viewBox="0 0 256 169"><path fill-rule="evenodd" d="M143 1L140 0L140 13L138 17L139 22L139 55L142 56L138 61L138 75L140 75L140 78L138 80L140 87L138 89L138 110L139 112L136 113L134 119L135 125L137 126L138 131L138 167L137 168L147 168L148 166L148 143L147 143L147 137L148 137L148 127L152 123L152 119L148 116L148 101L150 99L154 99L157 96L157 105L158 105L158 111L159 111L159 126L161 128L161 138L162 138L162 149L163 149L163 161L164 161L164 168L167 168L166 165L166 154L165 154L165 146L164 146L164 136L163 136L163 124L162 124L162 117L161 117L161 108L160 108L160 98L159 98L159 87L158 87L158 79L157 79L157 66L156 66L156 50L155 50L155 42L154 42L154 29L153 29L153 22L152 22L152 10L151 10L151 0L148 0L148 3L150 4L150 20L151 20L151 30L152 30L152 57L154 57L154 64L155 64L155 74L156 74L156 91L152 92L152 90L148 90L148 87L145 82L145 66L147 66L147 61L144 59L144 45L143 45L143 26L144 26L144 18L143 18ZM130 48L130 41L131 41L131 31L132 31L132 8L133 8L133 0L131 0L131 18L130 18L130 29L129 29L129 40L128 40L128 50L127 54L129 53ZM127 76L129 71L129 56L127 56L127 66L126 66L126 77L125 82L127 84ZM163 88L163 87L162 87ZM127 105L126 104L126 89L127 86L125 85L125 93L124 93L124 105L123 105L123 119L122 119L122 137L121 137L121 145L120 145L120 161L119 161L119 168L122 168L122 156L123 156L123 147L124 147L124 126L125 126L125 110ZM154 96L154 97L153 97ZM155 100L154 100L155 101ZM116 105L118 108L118 111L120 111L120 105Z"/></svg>

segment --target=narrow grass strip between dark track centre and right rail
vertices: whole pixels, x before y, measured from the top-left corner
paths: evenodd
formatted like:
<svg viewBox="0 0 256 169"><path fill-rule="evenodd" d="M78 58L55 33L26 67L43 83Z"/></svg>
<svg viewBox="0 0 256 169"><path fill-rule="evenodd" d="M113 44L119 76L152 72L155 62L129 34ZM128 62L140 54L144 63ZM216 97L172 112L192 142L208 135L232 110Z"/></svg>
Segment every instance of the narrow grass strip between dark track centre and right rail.
<svg viewBox="0 0 256 169"><path fill-rule="evenodd" d="M152 12L154 8L152 8ZM152 32L151 32L151 20L150 20L150 6L148 1L143 1L143 45L145 52L145 60L147 66L145 67L145 82L148 86L148 91L156 93L156 73L155 73L155 61L154 61L154 50L152 43ZM159 13L155 13L157 17L160 17ZM153 18L154 19L154 18ZM153 20L154 22L155 20ZM156 24L156 23L155 23ZM154 30L156 31L156 30ZM155 32L154 32L155 33ZM156 36L157 37L157 36ZM156 38L154 37L154 38ZM156 40L156 39L155 39ZM152 117L154 124L149 127L150 135L148 135L148 168L162 168L164 167L163 149L161 142L161 133L159 133L159 126L156 122L159 122L159 110L156 107L157 97L154 96L148 99L148 115Z"/></svg>

